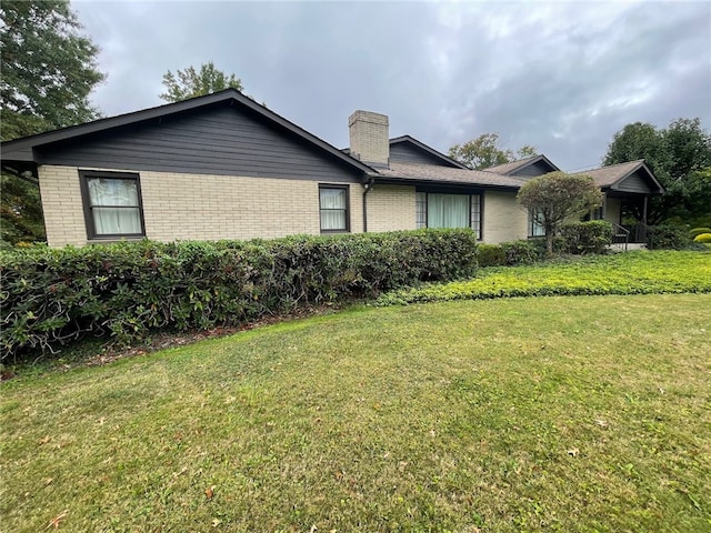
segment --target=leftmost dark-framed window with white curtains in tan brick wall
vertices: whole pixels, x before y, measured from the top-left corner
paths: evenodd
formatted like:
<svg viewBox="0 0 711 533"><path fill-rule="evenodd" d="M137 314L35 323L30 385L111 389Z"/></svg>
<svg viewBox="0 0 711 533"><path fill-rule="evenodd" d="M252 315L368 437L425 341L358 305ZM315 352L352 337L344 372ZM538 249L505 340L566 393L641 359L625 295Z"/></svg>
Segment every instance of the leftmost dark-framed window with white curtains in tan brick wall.
<svg viewBox="0 0 711 533"><path fill-rule="evenodd" d="M89 239L146 235L138 174L80 171L79 179Z"/></svg>

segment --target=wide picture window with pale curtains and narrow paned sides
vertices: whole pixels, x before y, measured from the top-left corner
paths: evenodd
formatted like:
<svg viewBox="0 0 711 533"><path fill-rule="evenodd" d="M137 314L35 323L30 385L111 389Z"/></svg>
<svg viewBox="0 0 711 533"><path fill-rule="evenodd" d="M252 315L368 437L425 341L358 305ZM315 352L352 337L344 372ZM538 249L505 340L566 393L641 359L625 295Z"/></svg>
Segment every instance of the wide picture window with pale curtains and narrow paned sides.
<svg viewBox="0 0 711 533"><path fill-rule="evenodd" d="M481 194L417 192L415 224L422 228L471 228L481 239Z"/></svg>

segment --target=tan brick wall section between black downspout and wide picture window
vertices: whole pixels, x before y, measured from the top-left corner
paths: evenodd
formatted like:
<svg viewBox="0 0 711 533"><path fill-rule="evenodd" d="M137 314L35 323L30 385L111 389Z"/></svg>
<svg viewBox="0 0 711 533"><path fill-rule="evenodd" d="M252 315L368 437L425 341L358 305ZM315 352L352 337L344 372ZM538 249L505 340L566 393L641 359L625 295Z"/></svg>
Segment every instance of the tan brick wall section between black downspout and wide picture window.
<svg viewBox="0 0 711 533"><path fill-rule="evenodd" d="M414 187L374 185L367 202L368 231L417 229Z"/></svg>

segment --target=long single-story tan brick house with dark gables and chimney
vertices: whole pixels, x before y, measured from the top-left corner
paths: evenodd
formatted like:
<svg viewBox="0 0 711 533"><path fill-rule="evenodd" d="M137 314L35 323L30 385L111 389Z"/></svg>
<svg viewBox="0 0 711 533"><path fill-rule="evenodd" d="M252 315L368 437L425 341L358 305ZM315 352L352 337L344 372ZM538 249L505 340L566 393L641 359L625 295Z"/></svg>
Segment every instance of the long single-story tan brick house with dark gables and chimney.
<svg viewBox="0 0 711 533"><path fill-rule="evenodd" d="M51 247L428 227L525 239L517 192L558 170L543 155L469 170L409 135L389 139L378 113L356 111L349 130L338 150L228 89L3 143L2 169L39 179ZM585 172L601 172L601 213L617 223L625 194L663 192L643 162L627 164Z"/></svg>

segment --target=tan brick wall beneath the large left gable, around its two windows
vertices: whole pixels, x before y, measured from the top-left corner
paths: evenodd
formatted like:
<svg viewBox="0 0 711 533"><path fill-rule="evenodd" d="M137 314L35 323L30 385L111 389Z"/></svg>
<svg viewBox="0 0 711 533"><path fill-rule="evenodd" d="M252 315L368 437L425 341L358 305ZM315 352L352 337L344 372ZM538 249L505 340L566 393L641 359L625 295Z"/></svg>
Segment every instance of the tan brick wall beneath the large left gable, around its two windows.
<svg viewBox="0 0 711 533"><path fill-rule="evenodd" d="M320 233L317 181L167 172L139 172L139 175L148 239L219 240ZM40 189L49 244L87 244L78 169L41 167ZM360 184L350 185L353 233L363 228L362 191Z"/></svg>

